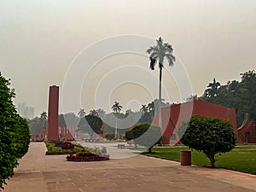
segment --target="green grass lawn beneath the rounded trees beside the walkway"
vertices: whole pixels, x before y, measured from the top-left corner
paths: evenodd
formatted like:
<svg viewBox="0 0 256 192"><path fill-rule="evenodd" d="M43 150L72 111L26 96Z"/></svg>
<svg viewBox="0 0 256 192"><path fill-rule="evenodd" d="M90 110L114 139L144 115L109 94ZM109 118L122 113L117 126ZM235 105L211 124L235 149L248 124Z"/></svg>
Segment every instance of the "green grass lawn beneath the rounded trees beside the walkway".
<svg viewBox="0 0 256 192"><path fill-rule="evenodd" d="M186 147L155 147L154 154L147 154L166 160L180 160L180 150L188 150ZM256 145L239 145L232 151L216 155L216 167L235 170L238 172L247 172L256 175ZM204 154L192 149L192 164L197 166L210 166L210 160Z"/></svg>

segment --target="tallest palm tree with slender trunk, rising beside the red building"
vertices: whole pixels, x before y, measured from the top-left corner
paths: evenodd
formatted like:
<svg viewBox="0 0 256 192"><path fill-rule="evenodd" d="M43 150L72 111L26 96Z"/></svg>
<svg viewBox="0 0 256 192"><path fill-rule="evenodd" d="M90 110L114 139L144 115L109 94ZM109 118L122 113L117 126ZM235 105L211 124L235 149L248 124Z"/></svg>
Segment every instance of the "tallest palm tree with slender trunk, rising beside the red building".
<svg viewBox="0 0 256 192"><path fill-rule="evenodd" d="M154 70L154 67L158 61L158 67L160 69L160 74L159 74L159 126L162 127L162 119L161 119L161 100L162 100L162 87L161 87L161 82L162 82L162 69L164 67L164 60L166 60L169 63L169 66L174 65L175 61L175 56L173 55L173 49L172 45L168 43L164 43L162 38L156 39L156 45L150 46L147 49L147 53L149 54L149 59L150 59L150 69Z"/></svg>

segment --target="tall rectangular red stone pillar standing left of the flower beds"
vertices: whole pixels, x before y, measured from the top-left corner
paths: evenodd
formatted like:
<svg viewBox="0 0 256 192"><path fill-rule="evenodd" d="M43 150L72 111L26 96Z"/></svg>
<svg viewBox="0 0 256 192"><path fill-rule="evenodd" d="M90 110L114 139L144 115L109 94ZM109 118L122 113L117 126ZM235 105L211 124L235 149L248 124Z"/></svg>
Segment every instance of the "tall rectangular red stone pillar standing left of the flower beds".
<svg viewBox="0 0 256 192"><path fill-rule="evenodd" d="M49 106L48 106L48 135L49 141L56 141L59 139L59 87L49 87Z"/></svg>

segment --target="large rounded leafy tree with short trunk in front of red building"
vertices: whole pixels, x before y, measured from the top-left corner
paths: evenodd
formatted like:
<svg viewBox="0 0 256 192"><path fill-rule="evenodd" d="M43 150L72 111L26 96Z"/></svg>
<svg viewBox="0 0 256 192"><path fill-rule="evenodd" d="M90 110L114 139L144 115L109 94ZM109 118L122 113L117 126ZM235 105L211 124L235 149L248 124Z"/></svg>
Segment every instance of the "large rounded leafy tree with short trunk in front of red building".
<svg viewBox="0 0 256 192"><path fill-rule="evenodd" d="M233 125L224 119L193 116L177 126L177 135L189 148L206 154L215 167L215 154L229 152L236 145Z"/></svg>

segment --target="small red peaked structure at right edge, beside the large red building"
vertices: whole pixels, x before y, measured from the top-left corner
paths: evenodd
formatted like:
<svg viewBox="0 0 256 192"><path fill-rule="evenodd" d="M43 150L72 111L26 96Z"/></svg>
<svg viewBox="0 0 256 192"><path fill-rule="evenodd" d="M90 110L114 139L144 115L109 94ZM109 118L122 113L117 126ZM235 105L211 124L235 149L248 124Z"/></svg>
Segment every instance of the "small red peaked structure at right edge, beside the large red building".
<svg viewBox="0 0 256 192"><path fill-rule="evenodd" d="M250 115L247 113L241 125L237 129L238 143L256 143L256 126Z"/></svg>

